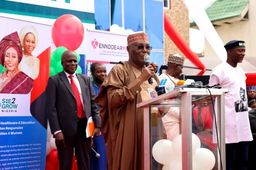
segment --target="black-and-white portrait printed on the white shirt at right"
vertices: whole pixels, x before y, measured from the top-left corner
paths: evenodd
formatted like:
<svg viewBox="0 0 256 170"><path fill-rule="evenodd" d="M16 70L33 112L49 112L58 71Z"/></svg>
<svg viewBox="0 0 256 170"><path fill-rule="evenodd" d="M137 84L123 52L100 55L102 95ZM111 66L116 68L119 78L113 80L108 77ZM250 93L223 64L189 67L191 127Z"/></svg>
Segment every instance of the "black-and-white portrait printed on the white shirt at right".
<svg viewBox="0 0 256 170"><path fill-rule="evenodd" d="M238 112L245 112L248 111L248 103L246 98L246 91L242 87L240 87L240 97L241 99L235 101L235 110L236 113Z"/></svg>

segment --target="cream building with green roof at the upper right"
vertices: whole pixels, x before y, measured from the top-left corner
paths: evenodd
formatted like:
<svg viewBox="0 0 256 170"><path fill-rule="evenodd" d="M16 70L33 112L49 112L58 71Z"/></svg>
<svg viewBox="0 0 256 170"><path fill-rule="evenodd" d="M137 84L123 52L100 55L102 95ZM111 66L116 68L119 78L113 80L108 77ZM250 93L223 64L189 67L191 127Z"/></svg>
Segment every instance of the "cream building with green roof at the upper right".
<svg viewBox="0 0 256 170"><path fill-rule="evenodd" d="M224 44L230 40L243 40L246 43L246 56L256 56L255 0L216 0L206 8L206 13ZM198 29L193 21L190 26ZM204 54L205 57L217 56L206 39Z"/></svg>

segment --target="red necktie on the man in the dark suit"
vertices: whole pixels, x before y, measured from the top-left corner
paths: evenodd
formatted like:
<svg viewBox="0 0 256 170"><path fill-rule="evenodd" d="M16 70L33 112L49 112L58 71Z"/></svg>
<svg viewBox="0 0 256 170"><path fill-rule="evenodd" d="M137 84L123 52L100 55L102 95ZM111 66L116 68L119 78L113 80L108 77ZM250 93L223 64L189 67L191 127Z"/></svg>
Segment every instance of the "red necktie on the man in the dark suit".
<svg viewBox="0 0 256 170"><path fill-rule="evenodd" d="M77 86L76 86L76 84L73 80L73 75L70 75L68 77L71 79L70 85L72 87L72 90L73 90L75 98L76 98L77 116L78 116L78 118L82 118L83 114L84 114L84 109L83 109L83 104L82 104L82 101L81 101L81 98L80 98L78 88L77 88Z"/></svg>

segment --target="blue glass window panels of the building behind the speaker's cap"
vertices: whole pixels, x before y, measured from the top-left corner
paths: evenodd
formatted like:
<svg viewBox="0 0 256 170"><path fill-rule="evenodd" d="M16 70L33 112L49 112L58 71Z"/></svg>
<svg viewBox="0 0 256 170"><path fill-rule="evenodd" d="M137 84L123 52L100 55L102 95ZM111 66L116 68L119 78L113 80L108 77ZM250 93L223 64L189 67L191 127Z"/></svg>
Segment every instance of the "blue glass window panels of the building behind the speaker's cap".
<svg viewBox="0 0 256 170"><path fill-rule="evenodd" d="M164 63L163 0L105 0L95 1L96 29L108 30L113 24L144 31L153 47L150 60Z"/></svg>

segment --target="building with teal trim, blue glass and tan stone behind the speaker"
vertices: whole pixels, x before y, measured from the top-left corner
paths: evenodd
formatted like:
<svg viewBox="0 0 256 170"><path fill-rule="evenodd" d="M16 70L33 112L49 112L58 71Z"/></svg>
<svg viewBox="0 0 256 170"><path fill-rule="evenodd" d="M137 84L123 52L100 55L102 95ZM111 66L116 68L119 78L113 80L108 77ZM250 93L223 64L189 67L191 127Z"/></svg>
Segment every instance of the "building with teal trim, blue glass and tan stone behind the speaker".
<svg viewBox="0 0 256 170"><path fill-rule="evenodd" d="M188 10L182 0L0 1L0 15L4 17L53 24L61 15L73 14L82 21L85 30L88 28L109 31L111 25L117 24L125 30L144 31L153 47L150 54L151 61L159 65L167 62L168 55L171 53L183 55L164 32L164 10L178 32L189 43ZM83 62L86 61L85 39L86 33L84 42L77 50L82 55L81 58L84 58ZM52 48L53 50L56 48L54 44ZM80 65L83 70L85 64Z"/></svg>

